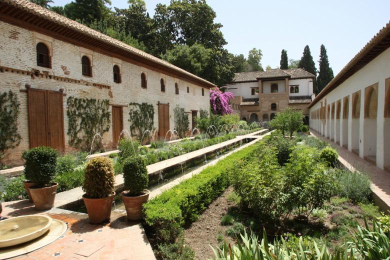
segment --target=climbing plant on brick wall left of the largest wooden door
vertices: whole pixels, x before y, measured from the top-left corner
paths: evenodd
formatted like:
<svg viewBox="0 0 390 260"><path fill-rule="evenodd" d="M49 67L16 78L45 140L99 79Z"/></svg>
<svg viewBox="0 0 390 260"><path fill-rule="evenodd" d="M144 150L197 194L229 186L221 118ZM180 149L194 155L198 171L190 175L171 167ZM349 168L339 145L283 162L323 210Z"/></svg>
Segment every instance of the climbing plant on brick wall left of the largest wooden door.
<svg viewBox="0 0 390 260"><path fill-rule="evenodd" d="M11 90L0 94L0 160L8 149L20 143L21 136L17 132L19 106L17 96Z"/></svg>

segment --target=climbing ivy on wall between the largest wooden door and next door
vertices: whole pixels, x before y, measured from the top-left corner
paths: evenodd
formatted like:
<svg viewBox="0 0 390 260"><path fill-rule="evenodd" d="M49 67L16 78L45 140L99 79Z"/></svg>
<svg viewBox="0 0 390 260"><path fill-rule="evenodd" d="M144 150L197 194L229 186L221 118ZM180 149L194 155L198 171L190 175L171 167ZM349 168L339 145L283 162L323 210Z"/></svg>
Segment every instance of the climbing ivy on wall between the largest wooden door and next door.
<svg viewBox="0 0 390 260"><path fill-rule="evenodd" d="M110 111L108 99L78 98L70 96L67 99L67 117L69 120L67 134L69 145L82 151L89 151L93 136L109 130ZM101 151L99 137L93 142L92 151Z"/></svg>

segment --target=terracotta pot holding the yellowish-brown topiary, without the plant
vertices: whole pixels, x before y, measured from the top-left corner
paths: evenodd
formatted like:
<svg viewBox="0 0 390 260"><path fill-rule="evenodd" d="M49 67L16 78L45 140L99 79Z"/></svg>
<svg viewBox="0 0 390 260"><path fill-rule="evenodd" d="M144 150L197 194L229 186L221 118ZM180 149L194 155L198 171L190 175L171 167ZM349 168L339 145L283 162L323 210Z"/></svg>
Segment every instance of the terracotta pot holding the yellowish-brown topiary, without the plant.
<svg viewBox="0 0 390 260"><path fill-rule="evenodd" d="M115 192L108 197L103 198L88 198L82 195L86 212L88 213L89 223L98 224L111 217L111 205L114 199Z"/></svg>

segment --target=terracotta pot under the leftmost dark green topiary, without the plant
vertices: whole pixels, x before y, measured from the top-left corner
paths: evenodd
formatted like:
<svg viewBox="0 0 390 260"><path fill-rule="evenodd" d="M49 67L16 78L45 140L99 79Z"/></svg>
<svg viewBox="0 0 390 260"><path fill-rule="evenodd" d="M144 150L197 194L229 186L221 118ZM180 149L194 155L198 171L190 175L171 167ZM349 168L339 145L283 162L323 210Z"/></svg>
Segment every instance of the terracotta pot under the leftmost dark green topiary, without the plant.
<svg viewBox="0 0 390 260"><path fill-rule="evenodd" d="M55 192L57 191L57 182L52 182L47 187L29 187L32 201L36 210L45 210L54 206Z"/></svg>

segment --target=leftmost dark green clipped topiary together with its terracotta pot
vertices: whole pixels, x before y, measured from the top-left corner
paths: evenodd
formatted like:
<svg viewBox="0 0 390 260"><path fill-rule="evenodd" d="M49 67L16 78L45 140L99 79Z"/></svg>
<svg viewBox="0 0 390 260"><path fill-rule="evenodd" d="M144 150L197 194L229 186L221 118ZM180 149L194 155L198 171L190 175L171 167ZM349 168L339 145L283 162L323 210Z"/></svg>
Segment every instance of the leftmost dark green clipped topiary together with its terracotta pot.
<svg viewBox="0 0 390 260"><path fill-rule="evenodd" d="M28 188L35 209L44 210L54 206L58 183L52 182L55 176L57 151L51 147L34 147L22 153L25 160L24 174L33 186Z"/></svg>

